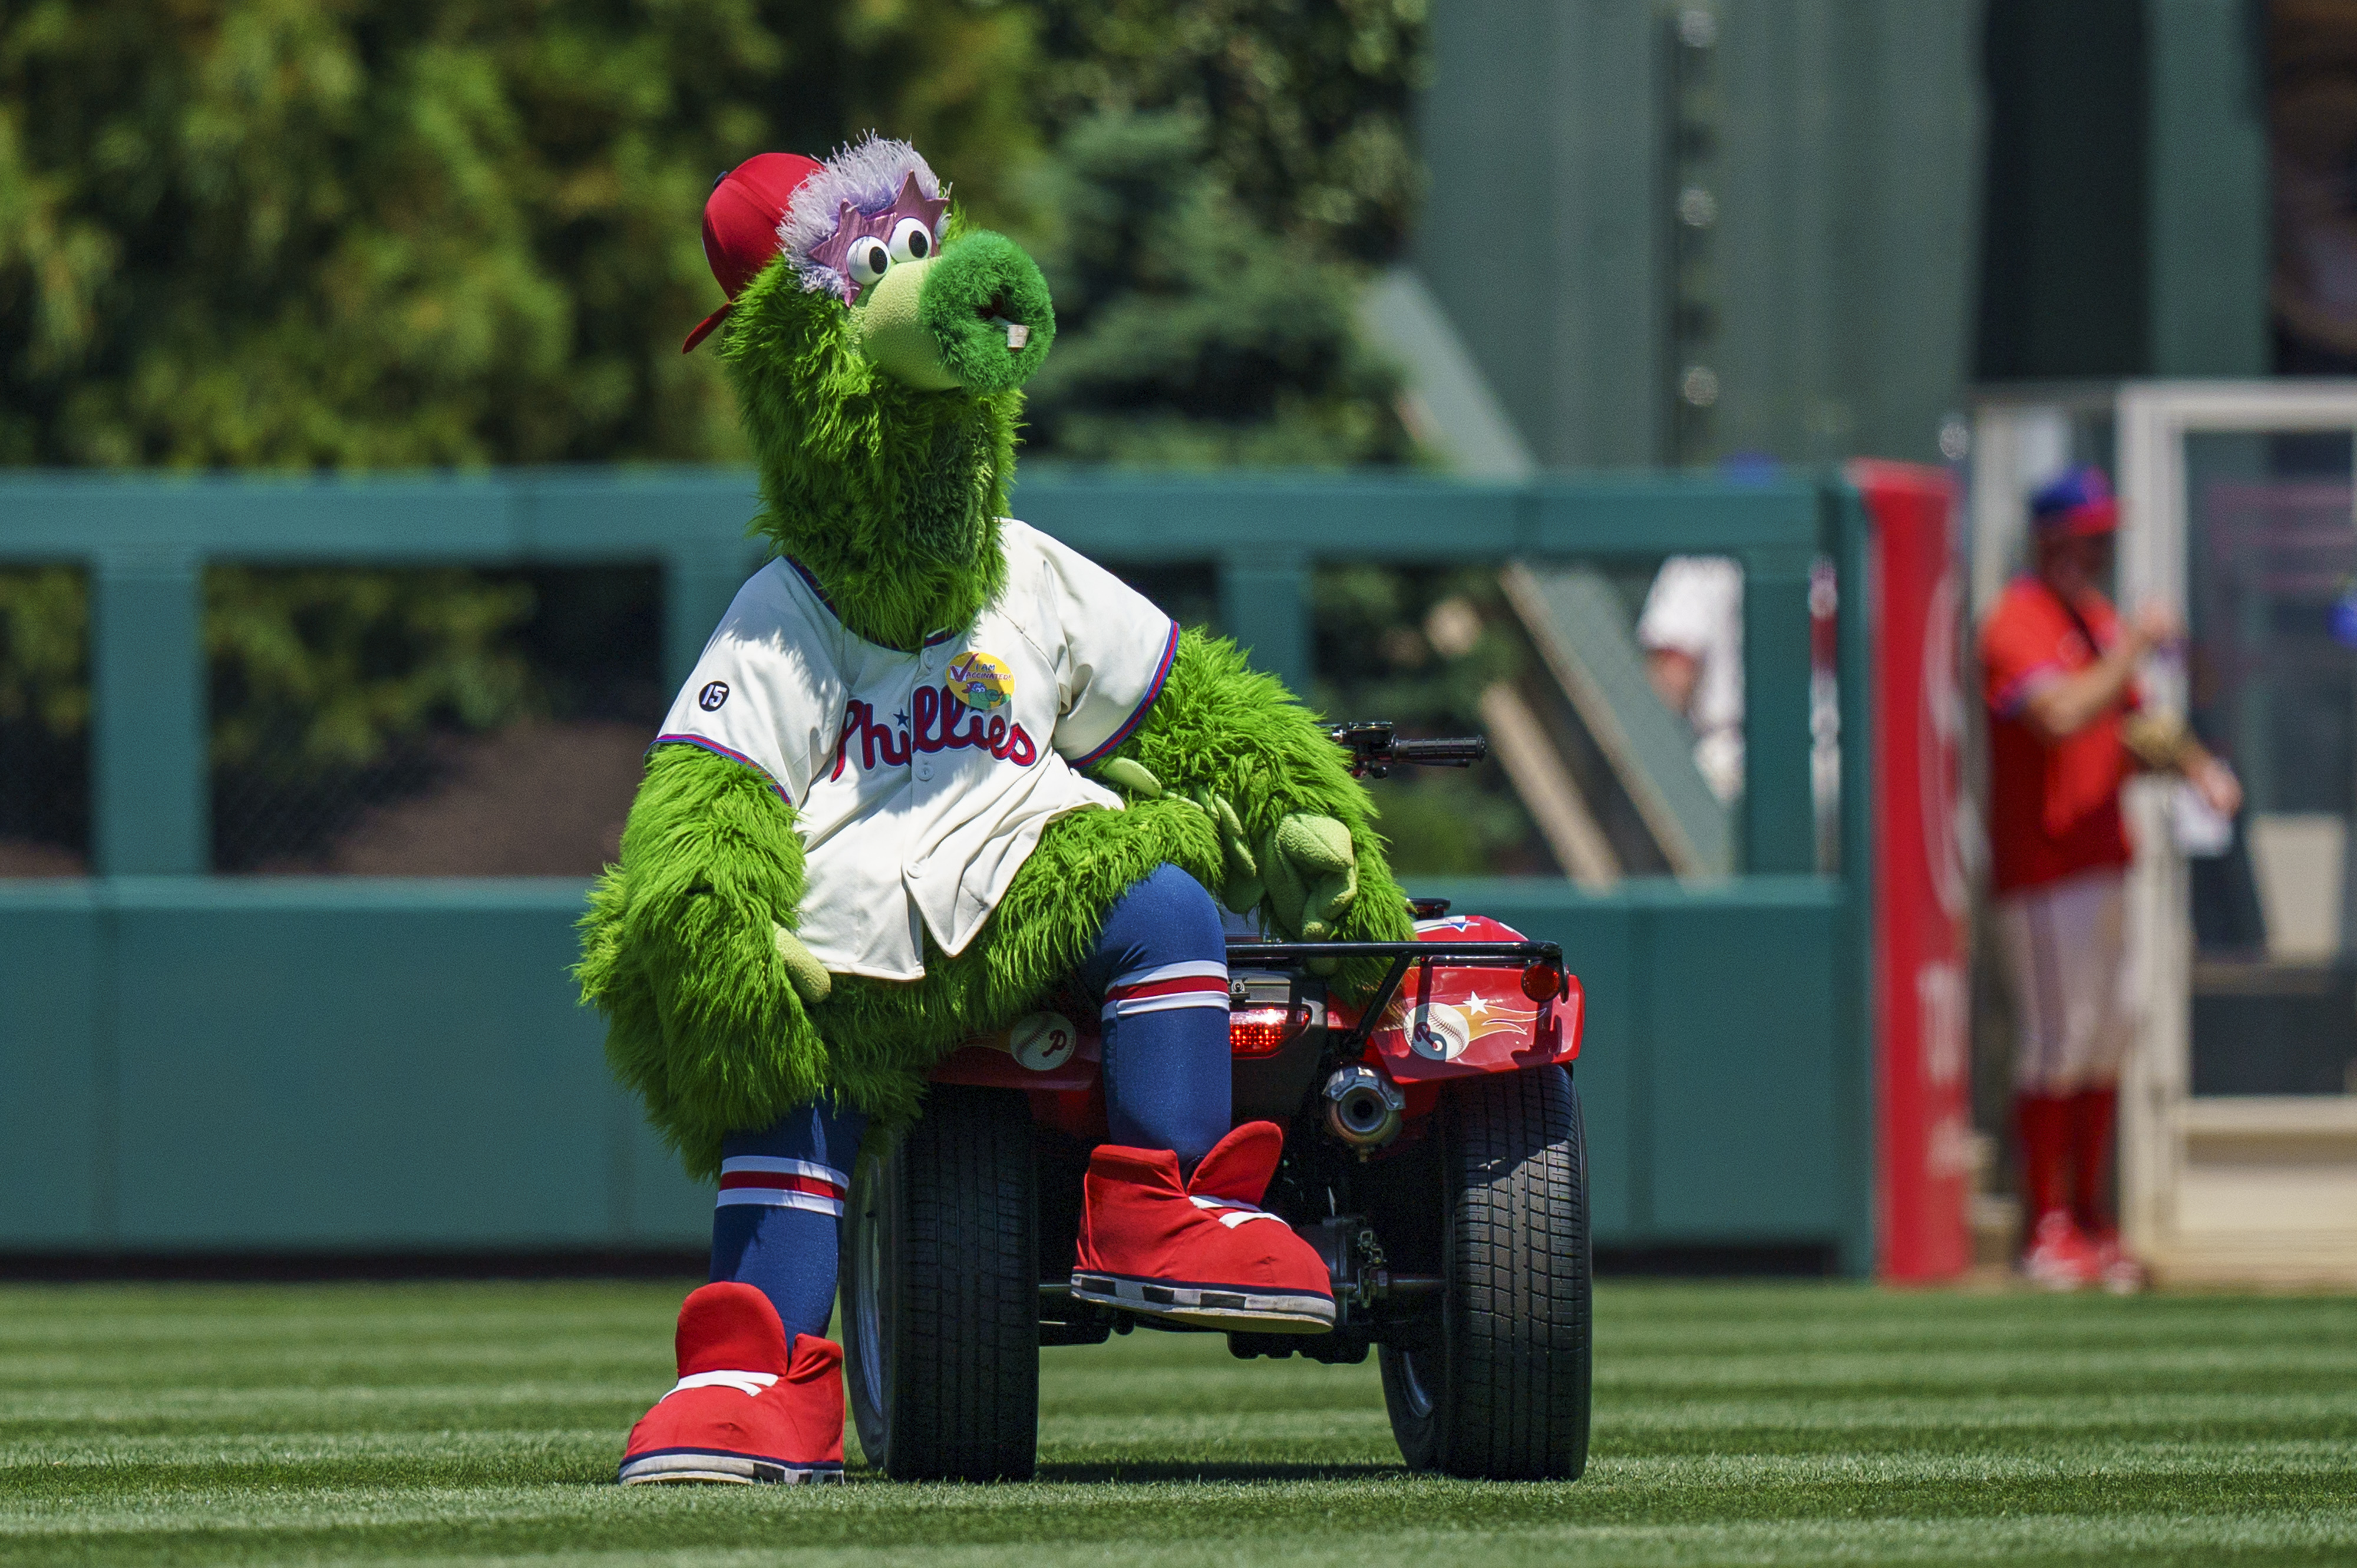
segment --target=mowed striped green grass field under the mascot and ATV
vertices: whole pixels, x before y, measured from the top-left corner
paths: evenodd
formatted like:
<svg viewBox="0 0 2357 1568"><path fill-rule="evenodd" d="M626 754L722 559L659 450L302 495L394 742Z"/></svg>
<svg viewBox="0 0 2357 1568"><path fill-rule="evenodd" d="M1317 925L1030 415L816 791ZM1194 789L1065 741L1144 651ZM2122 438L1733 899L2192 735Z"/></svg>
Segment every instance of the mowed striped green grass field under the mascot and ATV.
<svg viewBox="0 0 2357 1568"><path fill-rule="evenodd" d="M1032 1485L615 1488L672 1285L0 1290L0 1563L2357 1563L2357 1299L1605 1283L1586 1481L1374 1363L1044 1353ZM856 1448L853 1448L856 1452Z"/></svg>

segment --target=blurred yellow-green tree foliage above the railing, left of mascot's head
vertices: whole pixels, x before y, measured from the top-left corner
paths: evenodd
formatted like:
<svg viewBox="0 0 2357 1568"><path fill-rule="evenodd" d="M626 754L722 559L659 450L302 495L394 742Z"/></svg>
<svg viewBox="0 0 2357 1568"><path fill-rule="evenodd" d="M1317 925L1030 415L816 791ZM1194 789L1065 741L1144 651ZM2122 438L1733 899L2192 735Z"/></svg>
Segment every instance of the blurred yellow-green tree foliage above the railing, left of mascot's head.
<svg viewBox="0 0 2357 1568"><path fill-rule="evenodd" d="M0 462L733 455L712 177L879 125L1032 144L981 0L40 0L0 12Z"/></svg>

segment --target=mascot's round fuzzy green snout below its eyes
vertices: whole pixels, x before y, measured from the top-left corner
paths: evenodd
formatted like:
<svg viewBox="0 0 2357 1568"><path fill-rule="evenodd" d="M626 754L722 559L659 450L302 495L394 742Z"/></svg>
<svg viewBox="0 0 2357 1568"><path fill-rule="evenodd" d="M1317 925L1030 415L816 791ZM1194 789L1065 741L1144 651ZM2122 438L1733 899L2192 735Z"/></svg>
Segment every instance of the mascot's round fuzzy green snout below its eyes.
<svg viewBox="0 0 2357 1568"><path fill-rule="evenodd" d="M860 351L922 391L1009 391L1037 375L1056 340L1056 309L1039 264L1004 233L978 229L938 255L893 259L867 241L863 262L882 262L851 307Z"/></svg>

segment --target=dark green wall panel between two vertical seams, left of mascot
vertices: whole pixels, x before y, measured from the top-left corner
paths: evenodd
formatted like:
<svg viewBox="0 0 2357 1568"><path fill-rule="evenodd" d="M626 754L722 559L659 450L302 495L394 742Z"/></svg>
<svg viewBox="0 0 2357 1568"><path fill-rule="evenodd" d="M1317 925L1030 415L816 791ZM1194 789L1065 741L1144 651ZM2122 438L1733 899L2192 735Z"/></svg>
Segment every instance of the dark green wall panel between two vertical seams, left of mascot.
<svg viewBox="0 0 2357 1568"><path fill-rule="evenodd" d="M120 1240L603 1240L573 946L493 910L120 915Z"/></svg>

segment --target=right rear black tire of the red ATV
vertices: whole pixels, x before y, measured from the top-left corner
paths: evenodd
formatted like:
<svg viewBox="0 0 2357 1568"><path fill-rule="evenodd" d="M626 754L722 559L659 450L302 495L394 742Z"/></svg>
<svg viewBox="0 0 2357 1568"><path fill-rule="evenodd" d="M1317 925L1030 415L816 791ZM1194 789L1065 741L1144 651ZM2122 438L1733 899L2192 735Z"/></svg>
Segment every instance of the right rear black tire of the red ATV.
<svg viewBox="0 0 2357 1568"><path fill-rule="evenodd" d="M1577 1481L1589 1467L1589 1158L1563 1068L1440 1096L1440 1316L1384 1344L1409 1469Z"/></svg>

